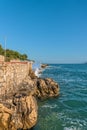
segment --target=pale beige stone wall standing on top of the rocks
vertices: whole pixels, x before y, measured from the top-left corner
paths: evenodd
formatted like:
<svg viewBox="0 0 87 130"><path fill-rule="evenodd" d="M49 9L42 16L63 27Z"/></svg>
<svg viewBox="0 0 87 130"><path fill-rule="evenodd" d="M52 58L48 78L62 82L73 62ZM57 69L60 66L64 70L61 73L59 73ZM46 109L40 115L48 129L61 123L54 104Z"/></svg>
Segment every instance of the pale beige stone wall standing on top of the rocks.
<svg viewBox="0 0 87 130"><path fill-rule="evenodd" d="M12 92L13 87L17 87L31 70L31 62L1 62L0 94Z"/></svg>

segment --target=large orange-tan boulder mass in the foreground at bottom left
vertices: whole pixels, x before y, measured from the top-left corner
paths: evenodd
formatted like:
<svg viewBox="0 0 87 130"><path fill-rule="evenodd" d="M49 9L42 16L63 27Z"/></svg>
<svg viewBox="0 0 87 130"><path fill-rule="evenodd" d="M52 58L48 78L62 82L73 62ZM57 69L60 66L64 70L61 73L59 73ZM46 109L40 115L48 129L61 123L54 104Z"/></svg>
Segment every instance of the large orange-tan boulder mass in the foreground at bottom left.
<svg viewBox="0 0 87 130"><path fill-rule="evenodd" d="M37 102L33 96L14 95L10 109L0 104L0 130L27 130L37 122Z"/></svg>

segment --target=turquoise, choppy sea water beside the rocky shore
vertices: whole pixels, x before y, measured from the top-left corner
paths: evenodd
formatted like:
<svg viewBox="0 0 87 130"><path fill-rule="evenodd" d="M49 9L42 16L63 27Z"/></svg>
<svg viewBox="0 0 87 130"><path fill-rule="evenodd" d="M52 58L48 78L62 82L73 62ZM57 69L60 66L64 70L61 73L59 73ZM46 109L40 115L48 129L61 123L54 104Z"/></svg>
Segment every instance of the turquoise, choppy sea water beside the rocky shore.
<svg viewBox="0 0 87 130"><path fill-rule="evenodd" d="M41 77L60 86L60 96L39 102L34 130L87 130L87 64L50 64Z"/></svg>

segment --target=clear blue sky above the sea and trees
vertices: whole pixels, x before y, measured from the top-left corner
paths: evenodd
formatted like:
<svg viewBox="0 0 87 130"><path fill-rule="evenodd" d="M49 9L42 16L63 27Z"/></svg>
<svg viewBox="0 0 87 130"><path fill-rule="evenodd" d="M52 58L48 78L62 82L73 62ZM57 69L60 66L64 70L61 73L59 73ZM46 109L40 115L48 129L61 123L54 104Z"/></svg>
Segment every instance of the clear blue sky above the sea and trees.
<svg viewBox="0 0 87 130"><path fill-rule="evenodd" d="M87 0L0 0L0 43L49 63L87 61Z"/></svg>

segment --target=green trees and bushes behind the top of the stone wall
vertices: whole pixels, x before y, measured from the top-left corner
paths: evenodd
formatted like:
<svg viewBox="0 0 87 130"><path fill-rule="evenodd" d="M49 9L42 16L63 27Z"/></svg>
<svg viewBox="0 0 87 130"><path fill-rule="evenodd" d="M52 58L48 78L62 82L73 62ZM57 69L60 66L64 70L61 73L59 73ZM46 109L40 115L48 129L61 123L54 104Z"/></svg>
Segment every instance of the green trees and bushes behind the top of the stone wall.
<svg viewBox="0 0 87 130"><path fill-rule="evenodd" d="M10 61L13 59L19 59L19 60L28 60L28 56L26 54L21 54L18 51L10 50L10 49L3 49L2 45L0 45L0 55L5 55L6 53L6 61Z"/></svg>

